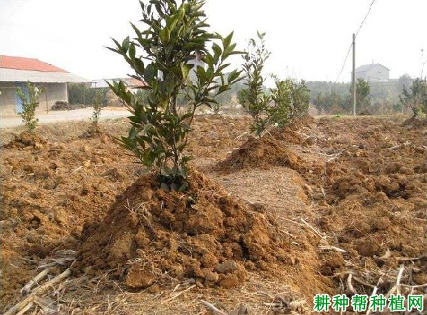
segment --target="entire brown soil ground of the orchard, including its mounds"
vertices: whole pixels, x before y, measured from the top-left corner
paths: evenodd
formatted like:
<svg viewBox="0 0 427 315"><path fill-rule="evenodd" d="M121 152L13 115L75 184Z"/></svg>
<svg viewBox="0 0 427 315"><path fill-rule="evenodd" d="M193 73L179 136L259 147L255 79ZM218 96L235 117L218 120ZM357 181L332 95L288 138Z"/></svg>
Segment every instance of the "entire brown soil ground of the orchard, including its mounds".
<svg viewBox="0 0 427 315"><path fill-rule="evenodd" d="M289 313L289 301L301 299L309 312L316 293L348 294L350 271L371 285L381 277L379 292L388 292L402 264L402 283L427 282L423 123L404 123L403 117L317 118L254 140L247 133L249 120L196 119L188 152L209 179L192 173L195 204L140 177L134 158L114 142L125 133L126 120L101 123L96 138L79 138L89 127L81 122L41 126L42 139L33 142L25 136L14 141L22 128L2 129L1 143L12 144L1 149L0 311L21 300L19 290L39 272L41 259L76 250L82 235L83 244L92 244L104 259L82 246L80 267L87 268L74 268L71 282L51 296L66 306L65 314L209 314L201 299L229 309L243 302L251 314ZM106 224L112 219L123 224L112 228ZM238 230L241 224L248 234ZM188 228L192 232L184 233ZM94 241L105 242L107 230L111 242L94 248ZM248 252L257 257L245 260ZM227 278L218 268L233 271ZM183 285L189 276L198 279L196 287ZM129 292L147 285L149 290ZM359 282L353 287L359 294L372 292ZM265 304L277 299L287 302Z"/></svg>

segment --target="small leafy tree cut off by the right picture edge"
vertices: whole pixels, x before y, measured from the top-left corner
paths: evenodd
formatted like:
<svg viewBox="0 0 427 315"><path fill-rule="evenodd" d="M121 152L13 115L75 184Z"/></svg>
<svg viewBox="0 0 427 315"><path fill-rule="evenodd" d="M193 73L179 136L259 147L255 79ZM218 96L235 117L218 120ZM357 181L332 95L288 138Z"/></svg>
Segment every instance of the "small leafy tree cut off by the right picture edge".
<svg viewBox="0 0 427 315"><path fill-rule="evenodd" d="M404 109L412 109L413 117L417 117L421 109L424 112L426 108L427 98L427 79L426 78L416 78L413 81L410 89L402 90L402 94L399 95L399 100L402 103Z"/></svg>

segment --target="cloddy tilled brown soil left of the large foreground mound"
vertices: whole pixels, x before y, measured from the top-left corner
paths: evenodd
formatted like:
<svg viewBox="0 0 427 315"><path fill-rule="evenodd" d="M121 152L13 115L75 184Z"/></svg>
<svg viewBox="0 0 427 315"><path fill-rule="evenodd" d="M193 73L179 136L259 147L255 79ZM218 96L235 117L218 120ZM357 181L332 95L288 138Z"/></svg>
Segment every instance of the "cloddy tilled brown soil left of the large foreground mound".
<svg viewBox="0 0 427 315"><path fill-rule="evenodd" d="M104 128L120 133L121 125ZM37 274L34 263L75 249L85 220L101 219L117 192L138 177L139 168L105 129L101 138L81 140L77 135L88 124L72 126L79 128L43 126L19 136L2 131L8 144L1 149L1 308Z"/></svg>

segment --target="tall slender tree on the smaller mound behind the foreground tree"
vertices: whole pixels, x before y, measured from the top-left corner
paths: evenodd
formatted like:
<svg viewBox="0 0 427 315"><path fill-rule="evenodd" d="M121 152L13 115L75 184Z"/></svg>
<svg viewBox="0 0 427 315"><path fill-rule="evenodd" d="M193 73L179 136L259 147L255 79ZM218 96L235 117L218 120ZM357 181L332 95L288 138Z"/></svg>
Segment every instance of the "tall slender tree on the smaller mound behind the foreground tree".
<svg viewBox="0 0 427 315"><path fill-rule="evenodd" d="M253 118L250 130L260 137L269 124L267 109L271 98L264 93L265 79L262 76L262 69L270 52L265 47L265 33L257 32L257 34L258 41L250 39L247 53L243 55L243 72L247 78L244 85L247 87L239 91L238 102L244 111Z"/></svg>

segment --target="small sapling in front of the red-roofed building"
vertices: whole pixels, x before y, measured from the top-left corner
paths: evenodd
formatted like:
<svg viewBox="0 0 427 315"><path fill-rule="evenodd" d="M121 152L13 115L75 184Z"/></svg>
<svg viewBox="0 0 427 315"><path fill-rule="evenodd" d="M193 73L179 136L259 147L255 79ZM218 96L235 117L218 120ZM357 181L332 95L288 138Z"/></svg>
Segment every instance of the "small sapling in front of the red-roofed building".
<svg viewBox="0 0 427 315"><path fill-rule="evenodd" d="M22 102L22 111L19 115L28 131L33 131L37 127L39 118L36 118L36 109L39 106L39 97L43 94L44 89L39 88L33 83L27 82L28 96L21 87L17 87L17 95Z"/></svg>

